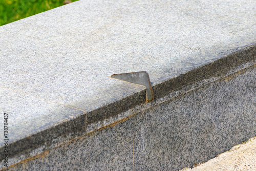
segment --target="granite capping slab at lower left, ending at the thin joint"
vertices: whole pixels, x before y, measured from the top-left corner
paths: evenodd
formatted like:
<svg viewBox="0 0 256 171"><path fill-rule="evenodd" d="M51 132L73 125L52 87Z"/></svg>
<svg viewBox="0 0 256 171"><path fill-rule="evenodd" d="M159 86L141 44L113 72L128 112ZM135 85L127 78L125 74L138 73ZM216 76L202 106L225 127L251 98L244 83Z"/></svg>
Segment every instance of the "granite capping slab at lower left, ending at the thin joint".
<svg viewBox="0 0 256 171"><path fill-rule="evenodd" d="M72 130L85 130L82 111L0 87L1 115L8 114L9 155L37 146ZM5 105L3 105L5 104ZM49 117L46 113L52 113ZM80 118L74 119L76 115ZM4 117L3 117L4 118ZM70 120L67 124L66 121ZM4 119L0 123L4 125ZM75 134L80 134L81 130ZM3 134L4 136L4 134ZM3 156L4 138L0 140ZM2 159L1 159L2 160Z"/></svg>

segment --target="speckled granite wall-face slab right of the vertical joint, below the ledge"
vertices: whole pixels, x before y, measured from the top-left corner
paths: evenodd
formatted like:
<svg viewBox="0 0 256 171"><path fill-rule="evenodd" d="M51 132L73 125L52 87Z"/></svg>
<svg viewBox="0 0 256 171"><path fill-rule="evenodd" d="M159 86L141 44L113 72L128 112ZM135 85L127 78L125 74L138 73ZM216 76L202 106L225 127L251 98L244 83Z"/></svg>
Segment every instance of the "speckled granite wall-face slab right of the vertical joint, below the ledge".
<svg viewBox="0 0 256 171"><path fill-rule="evenodd" d="M256 135L256 68L135 116L134 170L179 170Z"/></svg>

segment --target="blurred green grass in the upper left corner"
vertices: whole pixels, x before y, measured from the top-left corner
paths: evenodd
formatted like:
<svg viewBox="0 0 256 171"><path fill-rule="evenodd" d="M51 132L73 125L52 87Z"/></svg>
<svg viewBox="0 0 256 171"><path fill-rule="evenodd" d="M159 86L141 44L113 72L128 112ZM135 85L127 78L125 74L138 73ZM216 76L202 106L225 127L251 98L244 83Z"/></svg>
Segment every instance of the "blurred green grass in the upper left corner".
<svg viewBox="0 0 256 171"><path fill-rule="evenodd" d="M0 26L78 0L0 0Z"/></svg>

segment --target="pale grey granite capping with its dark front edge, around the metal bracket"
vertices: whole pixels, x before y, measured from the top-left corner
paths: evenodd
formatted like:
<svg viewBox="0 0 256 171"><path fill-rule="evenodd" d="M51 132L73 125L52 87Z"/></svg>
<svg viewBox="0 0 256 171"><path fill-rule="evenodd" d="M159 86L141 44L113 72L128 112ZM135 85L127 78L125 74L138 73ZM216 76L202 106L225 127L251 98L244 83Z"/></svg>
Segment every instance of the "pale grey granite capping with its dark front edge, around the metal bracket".
<svg viewBox="0 0 256 171"><path fill-rule="evenodd" d="M47 152L145 104L145 89L111 79L114 73L147 71L157 100L253 61L255 6L80 0L0 27L0 113L10 116L10 160Z"/></svg>

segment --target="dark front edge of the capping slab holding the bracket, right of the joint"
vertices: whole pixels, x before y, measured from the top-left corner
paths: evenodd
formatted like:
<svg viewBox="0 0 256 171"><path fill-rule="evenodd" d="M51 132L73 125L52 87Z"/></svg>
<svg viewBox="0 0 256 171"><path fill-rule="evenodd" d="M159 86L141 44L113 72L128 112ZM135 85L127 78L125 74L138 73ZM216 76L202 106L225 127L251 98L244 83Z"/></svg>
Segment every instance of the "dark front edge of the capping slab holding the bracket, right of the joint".
<svg viewBox="0 0 256 171"><path fill-rule="evenodd" d="M209 78L212 74L219 72L224 76L229 67L241 65L247 60L255 60L256 58L256 44L253 43L241 49L234 50L231 54L226 55L214 62L208 63L195 70L181 74L178 77L170 78L152 87L154 99L164 97L170 91L181 88L191 82L200 81L201 79ZM224 71L225 70L225 71ZM223 73L221 71L224 71ZM108 91L108 90L107 90ZM115 101L111 104L105 105L102 108L93 110L87 114L87 125L93 122L115 116L118 113L124 112L133 106L145 102L146 91L143 90L139 93L126 97L122 100Z"/></svg>

